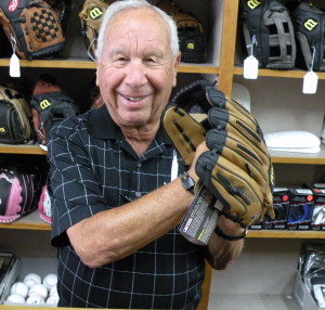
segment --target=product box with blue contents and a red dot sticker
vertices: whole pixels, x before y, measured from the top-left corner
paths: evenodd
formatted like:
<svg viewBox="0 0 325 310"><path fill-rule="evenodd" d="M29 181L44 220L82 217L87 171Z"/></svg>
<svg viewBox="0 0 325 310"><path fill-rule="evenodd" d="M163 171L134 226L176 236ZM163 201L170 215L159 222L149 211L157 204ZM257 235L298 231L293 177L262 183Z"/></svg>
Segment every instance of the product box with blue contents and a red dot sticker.
<svg viewBox="0 0 325 310"><path fill-rule="evenodd" d="M310 230L314 207L314 195L309 189L290 189L290 207L287 228Z"/></svg>

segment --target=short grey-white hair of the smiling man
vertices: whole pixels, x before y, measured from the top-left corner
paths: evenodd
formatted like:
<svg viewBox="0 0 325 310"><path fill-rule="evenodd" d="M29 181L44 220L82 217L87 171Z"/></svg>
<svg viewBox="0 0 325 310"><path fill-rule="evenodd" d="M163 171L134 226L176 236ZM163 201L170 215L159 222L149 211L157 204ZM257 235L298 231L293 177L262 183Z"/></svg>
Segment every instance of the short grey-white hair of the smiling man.
<svg viewBox="0 0 325 310"><path fill-rule="evenodd" d="M109 4L109 7L107 8L107 10L105 12L104 18L102 21L100 33L99 33L99 38L98 38L98 50L96 50L98 60L99 61L102 60L106 26L109 24L109 22L113 20L113 17L117 13L119 13L122 10L128 10L130 8L151 8L153 11L157 12L162 17L162 20L167 23L169 31L170 31L171 53L174 57L177 57L180 47L179 47L177 24L172 20L172 17L169 16L166 12L164 12L159 8L152 5L146 0L119 0L119 1L116 1L112 4Z"/></svg>

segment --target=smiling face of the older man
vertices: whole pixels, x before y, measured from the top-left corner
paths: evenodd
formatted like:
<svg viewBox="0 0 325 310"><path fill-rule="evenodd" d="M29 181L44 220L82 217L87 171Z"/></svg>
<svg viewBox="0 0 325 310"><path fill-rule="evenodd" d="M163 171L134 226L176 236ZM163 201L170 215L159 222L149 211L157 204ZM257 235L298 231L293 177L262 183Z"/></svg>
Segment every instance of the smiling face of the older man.
<svg viewBox="0 0 325 310"><path fill-rule="evenodd" d="M116 15L105 33L96 83L117 125L157 124L176 85L180 57L173 59L168 26L147 9Z"/></svg>

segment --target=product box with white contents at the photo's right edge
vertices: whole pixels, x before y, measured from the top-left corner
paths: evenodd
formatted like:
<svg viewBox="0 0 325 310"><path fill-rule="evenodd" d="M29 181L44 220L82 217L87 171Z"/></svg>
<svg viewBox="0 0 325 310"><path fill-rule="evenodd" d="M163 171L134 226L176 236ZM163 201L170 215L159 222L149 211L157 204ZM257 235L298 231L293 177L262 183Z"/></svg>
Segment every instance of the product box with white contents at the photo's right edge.
<svg viewBox="0 0 325 310"><path fill-rule="evenodd" d="M313 191L314 208L311 221L311 229L316 231L325 230L325 183L304 183L304 188Z"/></svg>

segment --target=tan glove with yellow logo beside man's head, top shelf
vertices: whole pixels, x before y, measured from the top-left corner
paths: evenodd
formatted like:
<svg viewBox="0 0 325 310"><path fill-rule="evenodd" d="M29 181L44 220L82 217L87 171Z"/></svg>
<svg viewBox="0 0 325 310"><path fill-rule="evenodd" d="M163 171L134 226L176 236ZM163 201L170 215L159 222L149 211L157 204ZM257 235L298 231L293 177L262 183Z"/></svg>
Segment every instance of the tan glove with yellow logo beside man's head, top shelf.
<svg viewBox="0 0 325 310"><path fill-rule="evenodd" d="M86 0L79 12L81 21L82 37L89 56L95 60L95 50L98 48L99 30L103 16L113 0Z"/></svg>

